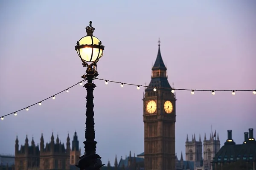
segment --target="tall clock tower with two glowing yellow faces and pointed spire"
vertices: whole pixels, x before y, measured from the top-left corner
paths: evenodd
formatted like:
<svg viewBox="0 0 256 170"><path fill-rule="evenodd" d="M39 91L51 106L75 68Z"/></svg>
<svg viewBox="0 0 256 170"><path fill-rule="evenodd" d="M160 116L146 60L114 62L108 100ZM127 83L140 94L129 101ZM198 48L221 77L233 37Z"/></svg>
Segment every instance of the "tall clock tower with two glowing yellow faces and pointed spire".
<svg viewBox="0 0 256 170"><path fill-rule="evenodd" d="M144 166L145 170L175 170L176 99L158 43L151 81L143 96ZM153 91L154 87L160 88Z"/></svg>

